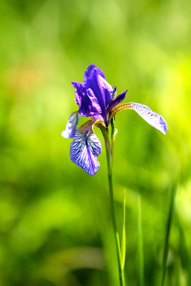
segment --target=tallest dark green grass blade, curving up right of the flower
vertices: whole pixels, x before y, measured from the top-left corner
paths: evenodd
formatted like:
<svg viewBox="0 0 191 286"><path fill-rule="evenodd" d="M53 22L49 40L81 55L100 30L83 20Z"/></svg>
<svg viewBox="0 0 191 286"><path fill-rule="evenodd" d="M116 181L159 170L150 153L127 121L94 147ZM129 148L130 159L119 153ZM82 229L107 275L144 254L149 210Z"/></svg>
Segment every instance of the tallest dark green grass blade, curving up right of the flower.
<svg viewBox="0 0 191 286"><path fill-rule="evenodd" d="M169 236L170 236L170 229L172 225L173 215L174 215L174 201L175 201L175 195L176 190L178 187L180 178L180 164L178 167L178 170L176 172L175 180L172 185L171 189L171 198L170 198L170 208L168 213L168 221L166 226L166 236L165 236L165 245L164 245L164 252L163 252L163 262L162 262L162 283L161 286L164 286L165 276L166 276L166 262L168 257L168 250L169 250Z"/></svg>

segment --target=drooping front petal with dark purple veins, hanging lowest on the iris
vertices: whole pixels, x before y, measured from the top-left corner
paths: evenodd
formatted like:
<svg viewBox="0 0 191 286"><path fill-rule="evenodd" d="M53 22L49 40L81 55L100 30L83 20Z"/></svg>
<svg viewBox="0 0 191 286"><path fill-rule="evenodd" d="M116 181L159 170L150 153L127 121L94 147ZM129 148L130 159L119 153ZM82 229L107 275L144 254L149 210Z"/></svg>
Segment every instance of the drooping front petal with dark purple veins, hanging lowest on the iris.
<svg viewBox="0 0 191 286"><path fill-rule="evenodd" d="M93 126L105 123L101 120L88 120L80 126L70 145L70 158L74 164L93 176L99 169L98 155L101 153L101 143L93 131Z"/></svg>

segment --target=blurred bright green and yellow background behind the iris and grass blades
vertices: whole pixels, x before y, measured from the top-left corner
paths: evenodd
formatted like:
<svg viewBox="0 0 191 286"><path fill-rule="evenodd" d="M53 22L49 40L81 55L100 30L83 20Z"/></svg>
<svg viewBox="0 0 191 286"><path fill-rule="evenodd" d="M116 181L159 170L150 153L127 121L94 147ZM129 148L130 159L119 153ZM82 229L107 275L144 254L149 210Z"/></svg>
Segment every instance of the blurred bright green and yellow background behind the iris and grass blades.
<svg viewBox="0 0 191 286"><path fill-rule="evenodd" d="M189 285L190 12L189 0L0 0L0 285L119 285L102 134L94 128L103 151L93 177L71 162L71 140L61 137L77 110L71 81L83 81L91 63L117 94L128 89L125 102L148 105L168 125L164 136L136 112L116 116L114 196L121 235L127 188L127 285L137 285L138 193L145 285L161 283L180 160L165 285Z"/></svg>

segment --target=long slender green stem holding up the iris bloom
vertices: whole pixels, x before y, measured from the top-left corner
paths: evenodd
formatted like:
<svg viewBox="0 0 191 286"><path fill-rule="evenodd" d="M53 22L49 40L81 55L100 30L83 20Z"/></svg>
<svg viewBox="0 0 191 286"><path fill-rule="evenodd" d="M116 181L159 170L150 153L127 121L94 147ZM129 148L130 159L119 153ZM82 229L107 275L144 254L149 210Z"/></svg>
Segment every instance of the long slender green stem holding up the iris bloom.
<svg viewBox="0 0 191 286"><path fill-rule="evenodd" d="M108 171L109 193L110 193L110 203L111 203L111 219L113 223L113 230L115 234L115 244L116 244L116 249L117 249L119 281L120 281L120 286L125 286L124 269L123 269L122 262L121 262L121 247L120 247L120 241L119 241L119 233L117 230L115 203L114 203L114 198L113 198L112 154L111 154L111 148L110 148L107 128L105 130L105 150L106 150L106 157L107 157L107 171Z"/></svg>

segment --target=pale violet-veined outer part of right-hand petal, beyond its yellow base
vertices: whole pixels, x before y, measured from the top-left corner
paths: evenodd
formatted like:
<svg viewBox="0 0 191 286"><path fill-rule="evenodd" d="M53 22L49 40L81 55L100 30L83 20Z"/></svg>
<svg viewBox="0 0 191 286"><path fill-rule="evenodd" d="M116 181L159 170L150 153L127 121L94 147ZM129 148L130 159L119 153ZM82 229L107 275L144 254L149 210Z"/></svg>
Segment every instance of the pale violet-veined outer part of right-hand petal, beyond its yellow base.
<svg viewBox="0 0 191 286"><path fill-rule="evenodd" d="M167 124L161 115L152 111L148 106L144 104L131 102L131 105L131 109L135 110L146 122L160 130L163 134L166 134Z"/></svg>

